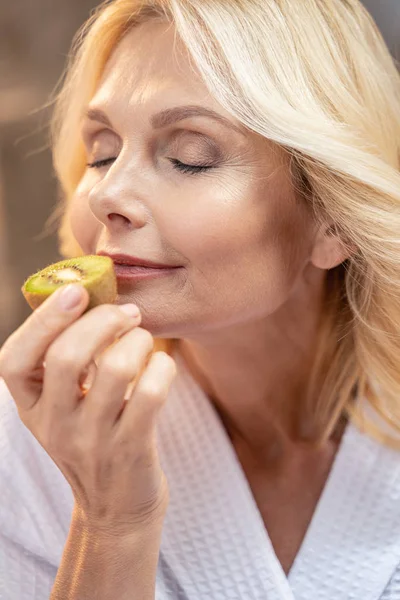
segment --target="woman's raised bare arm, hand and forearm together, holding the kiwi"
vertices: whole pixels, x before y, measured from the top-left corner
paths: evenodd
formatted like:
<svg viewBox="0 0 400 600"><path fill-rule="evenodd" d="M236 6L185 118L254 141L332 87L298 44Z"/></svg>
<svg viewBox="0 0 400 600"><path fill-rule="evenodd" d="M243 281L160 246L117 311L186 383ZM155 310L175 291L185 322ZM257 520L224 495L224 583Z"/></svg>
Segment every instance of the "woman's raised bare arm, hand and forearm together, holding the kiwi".
<svg viewBox="0 0 400 600"><path fill-rule="evenodd" d="M78 304L69 305L74 290ZM103 304L83 314L88 301L79 285L53 293L2 346L0 374L75 498L50 600L154 600L169 502L155 426L176 365L153 351L136 307Z"/></svg>

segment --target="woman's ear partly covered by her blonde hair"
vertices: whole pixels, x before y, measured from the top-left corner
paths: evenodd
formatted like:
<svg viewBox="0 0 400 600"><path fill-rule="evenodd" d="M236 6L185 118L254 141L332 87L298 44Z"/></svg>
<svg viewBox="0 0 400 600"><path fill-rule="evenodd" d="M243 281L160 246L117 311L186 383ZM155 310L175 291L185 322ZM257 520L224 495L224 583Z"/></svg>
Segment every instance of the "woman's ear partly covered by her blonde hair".
<svg viewBox="0 0 400 600"><path fill-rule="evenodd" d="M335 225L324 223L315 237L310 262L318 269L329 270L340 265L355 252L356 247L344 243Z"/></svg>

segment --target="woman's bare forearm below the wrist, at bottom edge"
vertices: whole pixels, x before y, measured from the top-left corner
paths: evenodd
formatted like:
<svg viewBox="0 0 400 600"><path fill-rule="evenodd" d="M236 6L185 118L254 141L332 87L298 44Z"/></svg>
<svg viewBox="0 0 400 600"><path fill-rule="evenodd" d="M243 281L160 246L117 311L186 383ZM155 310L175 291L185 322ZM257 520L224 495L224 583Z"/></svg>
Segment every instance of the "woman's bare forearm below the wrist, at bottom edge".
<svg viewBox="0 0 400 600"><path fill-rule="evenodd" d="M154 600L162 521L110 537L71 521L49 600Z"/></svg>

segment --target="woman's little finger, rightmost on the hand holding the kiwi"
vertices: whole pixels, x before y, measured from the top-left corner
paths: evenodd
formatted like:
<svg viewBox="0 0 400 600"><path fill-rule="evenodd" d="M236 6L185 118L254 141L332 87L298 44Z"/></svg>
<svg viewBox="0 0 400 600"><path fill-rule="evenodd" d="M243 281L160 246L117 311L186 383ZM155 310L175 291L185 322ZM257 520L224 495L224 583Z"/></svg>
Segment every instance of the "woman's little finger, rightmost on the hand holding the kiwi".
<svg viewBox="0 0 400 600"><path fill-rule="evenodd" d="M122 437L153 434L155 419L176 374L174 359L166 352L154 352L121 413L118 428Z"/></svg>

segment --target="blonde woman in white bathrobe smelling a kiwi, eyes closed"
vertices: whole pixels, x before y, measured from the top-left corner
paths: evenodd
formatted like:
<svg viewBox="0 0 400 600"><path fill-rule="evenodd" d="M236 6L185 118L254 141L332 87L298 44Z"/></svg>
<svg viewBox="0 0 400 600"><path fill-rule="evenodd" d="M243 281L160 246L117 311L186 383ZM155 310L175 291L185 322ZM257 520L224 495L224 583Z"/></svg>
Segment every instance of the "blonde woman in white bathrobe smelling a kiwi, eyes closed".
<svg viewBox="0 0 400 600"><path fill-rule="evenodd" d="M72 285L2 348L2 597L400 599L399 114L358 0L93 15L61 253L127 307Z"/></svg>

